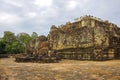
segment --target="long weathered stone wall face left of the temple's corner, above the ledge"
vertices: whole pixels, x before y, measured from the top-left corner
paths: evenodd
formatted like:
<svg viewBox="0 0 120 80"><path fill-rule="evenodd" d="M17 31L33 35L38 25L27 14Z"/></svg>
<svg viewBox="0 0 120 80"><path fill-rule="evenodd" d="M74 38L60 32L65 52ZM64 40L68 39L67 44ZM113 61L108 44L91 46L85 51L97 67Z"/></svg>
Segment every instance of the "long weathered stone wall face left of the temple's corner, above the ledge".
<svg viewBox="0 0 120 80"><path fill-rule="evenodd" d="M75 26L66 31L52 27L49 40L54 50L91 47L93 46L93 28Z"/></svg>

